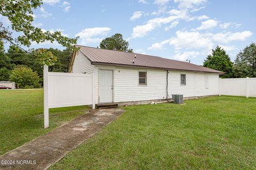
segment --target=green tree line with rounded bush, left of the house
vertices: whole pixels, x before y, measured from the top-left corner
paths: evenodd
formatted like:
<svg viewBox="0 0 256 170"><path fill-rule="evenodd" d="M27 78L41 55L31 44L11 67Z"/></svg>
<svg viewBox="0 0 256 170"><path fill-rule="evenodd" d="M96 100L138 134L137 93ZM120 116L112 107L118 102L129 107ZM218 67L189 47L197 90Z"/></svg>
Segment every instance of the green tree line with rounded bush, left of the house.
<svg viewBox="0 0 256 170"><path fill-rule="evenodd" d="M64 49L44 49L57 57L49 66L51 72L67 72L72 52ZM40 88L43 83L43 65L35 55L26 53L17 46L0 48L0 81L13 81L19 88Z"/></svg>

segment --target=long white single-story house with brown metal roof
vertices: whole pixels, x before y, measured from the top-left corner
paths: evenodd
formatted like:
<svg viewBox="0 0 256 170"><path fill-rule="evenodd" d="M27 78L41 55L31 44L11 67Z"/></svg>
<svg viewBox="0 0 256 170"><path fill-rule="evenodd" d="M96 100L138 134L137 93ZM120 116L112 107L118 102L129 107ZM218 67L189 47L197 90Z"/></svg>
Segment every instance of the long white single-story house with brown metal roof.
<svg viewBox="0 0 256 170"><path fill-rule="evenodd" d="M147 104L182 94L186 98L219 94L223 72L167 58L77 46L70 73L95 75L95 104Z"/></svg>

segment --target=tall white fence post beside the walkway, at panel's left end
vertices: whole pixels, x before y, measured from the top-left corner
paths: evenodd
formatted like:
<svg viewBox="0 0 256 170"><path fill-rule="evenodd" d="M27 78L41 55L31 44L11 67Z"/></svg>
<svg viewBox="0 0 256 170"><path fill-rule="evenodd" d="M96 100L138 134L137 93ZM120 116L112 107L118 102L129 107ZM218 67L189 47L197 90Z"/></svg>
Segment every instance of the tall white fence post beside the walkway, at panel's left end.
<svg viewBox="0 0 256 170"><path fill-rule="evenodd" d="M49 127L49 84L48 66L44 65L44 128Z"/></svg>

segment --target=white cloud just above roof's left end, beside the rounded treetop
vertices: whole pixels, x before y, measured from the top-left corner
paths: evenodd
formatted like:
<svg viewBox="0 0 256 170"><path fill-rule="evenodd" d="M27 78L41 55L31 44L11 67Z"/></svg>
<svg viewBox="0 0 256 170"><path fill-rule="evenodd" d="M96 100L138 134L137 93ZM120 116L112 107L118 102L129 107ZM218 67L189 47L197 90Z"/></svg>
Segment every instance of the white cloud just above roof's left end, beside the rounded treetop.
<svg viewBox="0 0 256 170"><path fill-rule="evenodd" d="M95 28L85 28L81 32L78 32L76 36L82 39L82 44L88 43L100 43L103 36L106 36L111 28L108 27L95 27Z"/></svg>

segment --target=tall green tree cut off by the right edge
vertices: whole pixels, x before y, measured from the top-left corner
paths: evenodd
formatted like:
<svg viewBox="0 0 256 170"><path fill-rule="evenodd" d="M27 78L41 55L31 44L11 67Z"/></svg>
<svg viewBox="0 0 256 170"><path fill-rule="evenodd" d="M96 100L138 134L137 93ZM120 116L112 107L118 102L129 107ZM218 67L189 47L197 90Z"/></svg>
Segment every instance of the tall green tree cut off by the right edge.
<svg viewBox="0 0 256 170"><path fill-rule="evenodd" d="M256 77L256 44L246 46L236 56L234 75L237 78Z"/></svg>

